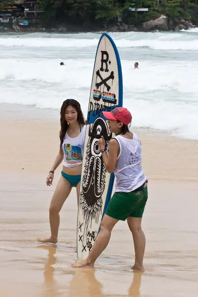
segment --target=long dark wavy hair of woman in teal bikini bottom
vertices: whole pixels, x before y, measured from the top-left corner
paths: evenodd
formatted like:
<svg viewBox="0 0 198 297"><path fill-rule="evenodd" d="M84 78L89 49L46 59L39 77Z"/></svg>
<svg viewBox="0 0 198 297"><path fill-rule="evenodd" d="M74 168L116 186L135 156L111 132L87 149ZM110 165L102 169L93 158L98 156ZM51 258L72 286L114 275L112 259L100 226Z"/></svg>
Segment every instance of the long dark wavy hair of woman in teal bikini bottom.
<svg viewBox="0 0 198 297"><path fill-rule="evenodd" d="M60 148L62 148L63 140L65 138L65 134L66 134L68 126L69 126L69 124L65 120L65 109L68 106L72 106L76 109L76 111L78 113L77 121L79 122L79 124L85 124L85 120L84 120L83 112L81 110L80 103L78 101L76 101L75 99L66 99L62 103L62 106L60 108L60 134L59 134Z"/></svg>

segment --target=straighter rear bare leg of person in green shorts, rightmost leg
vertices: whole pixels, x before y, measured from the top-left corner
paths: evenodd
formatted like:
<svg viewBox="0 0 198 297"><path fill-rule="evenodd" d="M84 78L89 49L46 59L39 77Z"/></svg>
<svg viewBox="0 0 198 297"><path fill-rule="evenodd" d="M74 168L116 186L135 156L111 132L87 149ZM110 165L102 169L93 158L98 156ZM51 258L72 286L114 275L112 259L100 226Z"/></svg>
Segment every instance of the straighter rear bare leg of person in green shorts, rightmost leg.
<svg viewBox="0 0 198 297"><path fill-rule="evenodd" d="M133 235L135 248L135 264L132 269L144 271L143 259L145 254L146 239L141 227L142 218L128 217L127 223Z"/></svg>

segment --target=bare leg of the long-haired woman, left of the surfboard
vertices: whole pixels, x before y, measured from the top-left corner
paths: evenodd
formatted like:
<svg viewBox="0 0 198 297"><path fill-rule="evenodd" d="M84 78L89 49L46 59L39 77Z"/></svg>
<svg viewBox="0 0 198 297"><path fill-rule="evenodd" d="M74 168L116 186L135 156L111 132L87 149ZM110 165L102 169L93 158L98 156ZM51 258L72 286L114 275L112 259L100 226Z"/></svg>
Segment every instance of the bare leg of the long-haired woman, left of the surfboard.
<svg viewBox="0 0 198 297"><path fill-rule="evenodd" d="M49 223L51 229L51 236L49 238L37 238L39 242L52 244L57 243L58 228L60 224L59 212L62 208L64 201L69 196L71 189L71 184L63 176L61 176L49 206Z"/></svg>

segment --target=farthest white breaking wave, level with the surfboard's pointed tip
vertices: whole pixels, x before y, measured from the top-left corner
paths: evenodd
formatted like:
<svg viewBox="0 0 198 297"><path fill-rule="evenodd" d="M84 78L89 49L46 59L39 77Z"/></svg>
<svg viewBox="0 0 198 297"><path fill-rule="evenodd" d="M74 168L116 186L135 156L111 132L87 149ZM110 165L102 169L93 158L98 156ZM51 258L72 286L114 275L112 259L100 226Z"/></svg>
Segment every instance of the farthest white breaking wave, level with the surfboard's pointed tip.
<svg viewBox="0 0 198 297"><path fill-rule="evenodd" d="M111 34L115 44L118 48L148 48L153 50L198 50L198 36L181 33L119 33ZM45 35L44 35L45 36ZM90 37L95 36L95 38ZM29 37L12 37L0 38L1 47L20 47L20 48L93 48L97 47L99 41L99 34L92 34L87 36L78 36L71 34L64 35L61 38L29 38ZM77 38L78 37L78 38ZM87 38L85 38L87 37Z"/></svg>

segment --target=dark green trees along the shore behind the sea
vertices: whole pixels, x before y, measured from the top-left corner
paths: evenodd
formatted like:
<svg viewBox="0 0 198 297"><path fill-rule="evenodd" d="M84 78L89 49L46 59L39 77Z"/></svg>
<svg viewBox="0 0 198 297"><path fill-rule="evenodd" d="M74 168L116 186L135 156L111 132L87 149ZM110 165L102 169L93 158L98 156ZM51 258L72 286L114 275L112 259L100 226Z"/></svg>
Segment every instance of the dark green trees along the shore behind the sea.
<svg viewBox="0 0 198 297"><path fill-rule="evenodd" d="M116 22L118 16L128 23L139 24L155 19L159 13L173 18L192 18L198 0L40 0L45 19L106 24ZM158 7L159 3L159 7ZM130 7L148 8L146 13L132 12ZM194 18L196 16L194 15Z"/></svg>

